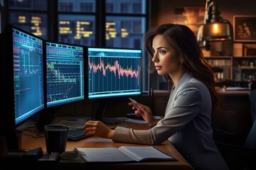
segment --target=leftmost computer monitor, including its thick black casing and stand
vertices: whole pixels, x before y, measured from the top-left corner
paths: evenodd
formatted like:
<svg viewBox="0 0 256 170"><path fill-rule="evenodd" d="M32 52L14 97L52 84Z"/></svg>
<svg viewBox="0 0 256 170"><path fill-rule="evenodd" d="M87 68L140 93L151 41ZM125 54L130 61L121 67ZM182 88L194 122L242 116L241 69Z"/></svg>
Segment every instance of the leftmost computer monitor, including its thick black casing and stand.
<svg viewBox="0 0 256 170"><path fill-rule="evenodd" d="M43 39L12 25L1 35L1 90L9 149L18 149L16 128L44 108Z"/></svg>

